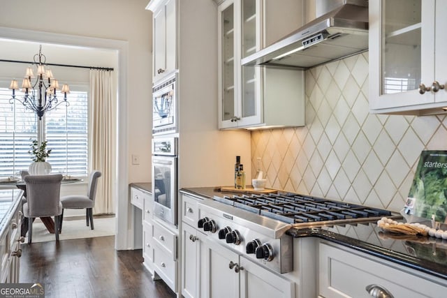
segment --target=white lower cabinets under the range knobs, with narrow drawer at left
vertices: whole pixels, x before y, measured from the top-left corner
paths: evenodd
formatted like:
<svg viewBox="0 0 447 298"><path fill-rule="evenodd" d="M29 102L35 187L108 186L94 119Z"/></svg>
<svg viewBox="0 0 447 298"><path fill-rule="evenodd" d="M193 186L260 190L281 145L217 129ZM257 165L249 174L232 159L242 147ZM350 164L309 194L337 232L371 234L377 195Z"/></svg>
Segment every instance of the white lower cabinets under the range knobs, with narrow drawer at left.
<svg viewBox="0 0 447 298"><path fill-rule="evenodd" d="M197 230L198 199L184 194L181 198L181 292L185 298L295 297L293 281L230 251Z"/></svg>

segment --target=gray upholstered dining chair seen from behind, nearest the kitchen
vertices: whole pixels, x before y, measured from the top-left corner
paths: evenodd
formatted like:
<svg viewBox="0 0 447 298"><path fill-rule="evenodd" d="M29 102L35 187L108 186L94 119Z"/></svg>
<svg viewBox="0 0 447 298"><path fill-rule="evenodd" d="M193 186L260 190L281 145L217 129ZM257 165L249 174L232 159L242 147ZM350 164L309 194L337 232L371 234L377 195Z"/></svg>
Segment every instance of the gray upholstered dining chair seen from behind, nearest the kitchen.
<svg viewBox="0 0 447 298"><path fill-rule="evenodd" d="M61 174L27 175L27 202L23 204L23 215L28 218L28 243L33 237L33 220L36 217L54 216L54 234L59 241L60 215L62 214Z"/></svg>

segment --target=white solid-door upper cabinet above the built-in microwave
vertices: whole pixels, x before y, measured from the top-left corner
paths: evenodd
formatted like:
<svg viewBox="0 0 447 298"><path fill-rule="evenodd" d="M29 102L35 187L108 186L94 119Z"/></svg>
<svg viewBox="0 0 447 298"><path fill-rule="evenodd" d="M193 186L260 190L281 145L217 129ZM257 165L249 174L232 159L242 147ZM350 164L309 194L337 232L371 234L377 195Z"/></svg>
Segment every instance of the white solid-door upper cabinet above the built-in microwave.
<svg viewBox="0 0 447 298"><path fill-rule="evenodd" d="M177 69L177 0L153 0L153 69L156 82Z"/></svg>

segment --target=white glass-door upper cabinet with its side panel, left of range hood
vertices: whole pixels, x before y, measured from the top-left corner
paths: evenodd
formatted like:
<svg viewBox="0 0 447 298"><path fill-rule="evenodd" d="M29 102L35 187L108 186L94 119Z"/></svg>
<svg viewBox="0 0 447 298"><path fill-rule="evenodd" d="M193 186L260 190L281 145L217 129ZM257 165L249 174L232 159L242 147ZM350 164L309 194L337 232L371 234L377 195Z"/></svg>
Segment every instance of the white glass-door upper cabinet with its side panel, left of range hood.
<svg viewBox="0 0 447 298"><path fill-rule="evenodd" d="M261 50L267 21L282 20L284 10L298 11L300 3L281 2L279 8L272 0L226 0L219 4L219 128L305 124L302 70L241 65L242 58ZM276 9L268 10L269 6ZM295 13L295 19L300 20L299 16ZM296 20L288 24L290 27L276 39L300 25Z"/></svg>

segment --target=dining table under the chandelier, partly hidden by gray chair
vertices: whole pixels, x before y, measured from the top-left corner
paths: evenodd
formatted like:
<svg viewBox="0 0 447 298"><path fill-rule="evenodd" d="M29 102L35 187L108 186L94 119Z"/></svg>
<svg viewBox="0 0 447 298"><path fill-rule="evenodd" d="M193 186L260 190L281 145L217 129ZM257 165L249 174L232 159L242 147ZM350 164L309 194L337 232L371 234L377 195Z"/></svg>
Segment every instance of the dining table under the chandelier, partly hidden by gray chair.
<svg viewBox="0 0 447 298"><path fill-rule="evenodd" d="M64 179L62 179L61 184L73 184L73 183L80 183L83 182L83 179L80 178L75 178L75 177L64 177ZM8 177L8 178L3 178L0 179L0 186L1 185L5 185L5 186L15 186L19 189L21 189L23 191L23 197L22 197L22 204L24 202L27 202L26 198L27 198L27 184L18 177ZM41 216L41 221L43 223L43 225L45 225L45 228L47 228L48 232L50 232L51 234L54 234L54 221L51 218L51 216ZM34 222L33 218L33 222ZM28 223L29 218L23 218L22 221L22 236L25 237L25 235L28 232Z"/></svg>

